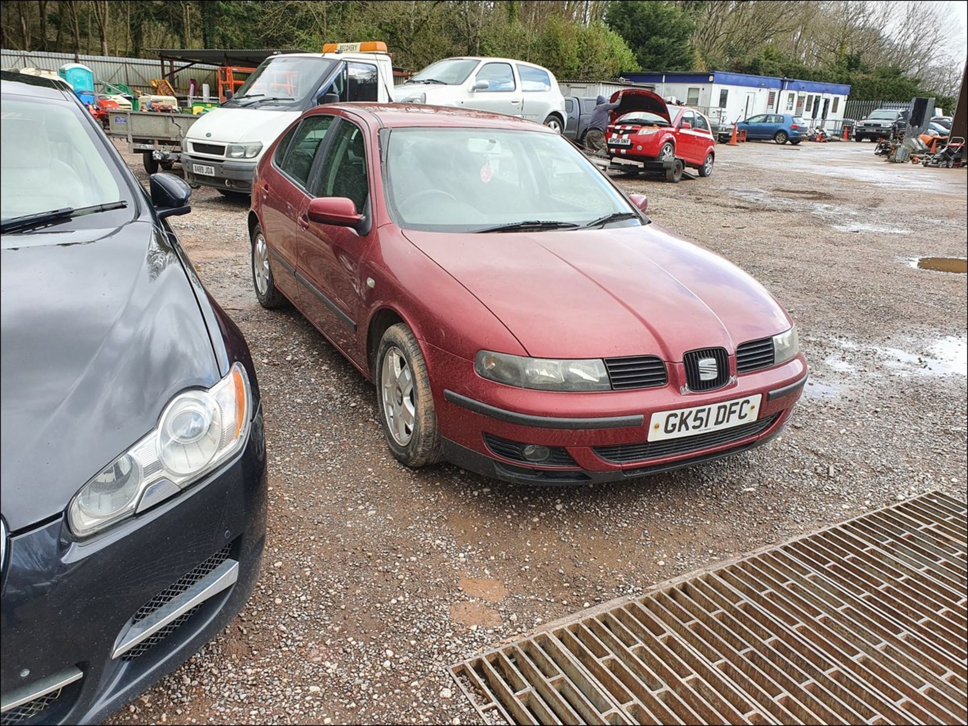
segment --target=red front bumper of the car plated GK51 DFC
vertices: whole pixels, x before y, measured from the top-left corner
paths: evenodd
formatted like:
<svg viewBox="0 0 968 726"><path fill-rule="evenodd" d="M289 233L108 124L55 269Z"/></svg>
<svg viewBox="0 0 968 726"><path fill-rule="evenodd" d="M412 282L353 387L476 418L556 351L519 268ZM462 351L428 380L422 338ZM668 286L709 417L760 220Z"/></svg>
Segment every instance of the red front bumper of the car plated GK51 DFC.
<svg viewBox="0 0 968 726"><path fill-rule="evenodd" d="M508 481L576 484L629 479L760 446L790 419L806 383L802 356L735 375L711 392L682 392L681 363L666 363L666 386L610 392L545 392L486 381L472 362L425 346L444 456ZM682 446L650 446L651 414L762 394L757 425L699 434ZM713 433L713 432L711 432ZM702 437L706 438L702 438ZM512 445L547 447L555 461L528 461Z"/></svg>

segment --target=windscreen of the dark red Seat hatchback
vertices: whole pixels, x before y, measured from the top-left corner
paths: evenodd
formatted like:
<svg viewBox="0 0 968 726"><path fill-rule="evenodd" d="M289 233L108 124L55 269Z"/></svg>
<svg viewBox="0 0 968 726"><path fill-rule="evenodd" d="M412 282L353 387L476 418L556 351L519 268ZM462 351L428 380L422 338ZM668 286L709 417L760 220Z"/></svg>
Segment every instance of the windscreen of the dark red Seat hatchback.
<svg viewBox="0 0 968 726"><path fill-rule="evenodd" d="M525 220L583 224L634 212L557 133L395 129L386 193L400 227L476 232Z"/></svg>

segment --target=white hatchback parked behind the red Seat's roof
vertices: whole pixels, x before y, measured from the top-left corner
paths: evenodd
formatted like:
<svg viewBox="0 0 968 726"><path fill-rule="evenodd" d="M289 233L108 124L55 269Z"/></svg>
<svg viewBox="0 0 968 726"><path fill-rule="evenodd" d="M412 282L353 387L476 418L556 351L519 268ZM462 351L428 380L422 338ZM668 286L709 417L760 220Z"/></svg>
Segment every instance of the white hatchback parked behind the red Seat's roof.
<svg viewBox="0 0 968 726"><path fill-rule="evenodd" d="M511 58L444 58L397 86L393 98L497 111L564 130L564 97L554 73Z"/></svg>

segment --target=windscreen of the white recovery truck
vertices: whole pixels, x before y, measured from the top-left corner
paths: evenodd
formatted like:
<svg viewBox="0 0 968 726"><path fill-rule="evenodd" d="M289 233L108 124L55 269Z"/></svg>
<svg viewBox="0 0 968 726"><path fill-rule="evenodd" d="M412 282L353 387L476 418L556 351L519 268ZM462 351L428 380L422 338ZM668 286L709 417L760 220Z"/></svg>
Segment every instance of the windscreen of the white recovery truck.
<svg viewBox="0 0 968 726"><path fill-rule="evenodd" d="M226 102L230 107L301 105L315 94L323 77L336 61L306 55L275 55L267 58L246 78Z"/></svg>

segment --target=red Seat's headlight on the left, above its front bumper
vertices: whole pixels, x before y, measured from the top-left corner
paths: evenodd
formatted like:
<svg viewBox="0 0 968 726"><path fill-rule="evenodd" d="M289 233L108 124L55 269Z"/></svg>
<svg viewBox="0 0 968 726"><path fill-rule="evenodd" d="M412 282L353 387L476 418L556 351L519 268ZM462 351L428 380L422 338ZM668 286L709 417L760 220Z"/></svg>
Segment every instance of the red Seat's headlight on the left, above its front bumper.
<svg viewBox="0 0 968 726"><path fill-rule="evenodd" d="M558 361L482 350L477 353L474 368L484 378L522 389L609 391L612 388L605 363L596 358Z"/></svg>

